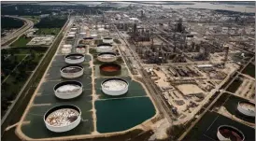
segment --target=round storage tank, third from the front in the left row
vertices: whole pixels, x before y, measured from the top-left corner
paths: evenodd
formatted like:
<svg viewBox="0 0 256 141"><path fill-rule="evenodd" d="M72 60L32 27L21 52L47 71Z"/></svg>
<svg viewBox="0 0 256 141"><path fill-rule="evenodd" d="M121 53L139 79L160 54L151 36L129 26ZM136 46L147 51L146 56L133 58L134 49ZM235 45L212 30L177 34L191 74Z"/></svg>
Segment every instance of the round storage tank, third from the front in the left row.
<svg viewBox="0 0 256 141"><path fill-rule="evenodd" d="M83 75L83 67L78 64L65 65L60 71L63 78L78 78Z"/></svg>

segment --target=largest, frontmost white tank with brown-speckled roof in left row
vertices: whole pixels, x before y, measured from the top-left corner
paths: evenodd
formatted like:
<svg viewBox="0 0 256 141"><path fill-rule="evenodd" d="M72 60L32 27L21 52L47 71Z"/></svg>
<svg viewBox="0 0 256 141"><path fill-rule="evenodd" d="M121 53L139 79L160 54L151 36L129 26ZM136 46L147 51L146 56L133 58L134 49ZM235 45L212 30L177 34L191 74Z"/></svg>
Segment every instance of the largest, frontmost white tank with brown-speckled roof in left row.
<svg viewBox="0 0 256 141"><path fill-rule="evenodd" d="M55 133L70 131L78 126L81 120L81 110L78 106L54 106L44 115L46 127Z"/></svg>

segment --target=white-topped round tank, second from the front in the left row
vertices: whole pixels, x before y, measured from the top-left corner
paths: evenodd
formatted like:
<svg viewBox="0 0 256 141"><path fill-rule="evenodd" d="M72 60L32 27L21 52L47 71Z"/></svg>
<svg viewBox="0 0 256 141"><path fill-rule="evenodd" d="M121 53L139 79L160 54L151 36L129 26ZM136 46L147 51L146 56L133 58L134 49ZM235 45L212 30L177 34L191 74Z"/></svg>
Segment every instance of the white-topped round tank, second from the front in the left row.
<svg viewBox="0 0 256 141"><path fill-rule="evenodd" d="M55 96L60 99L72 99L78 97L82 93L82 89L82 83L75 80L63 81L53 87Z"/></svg>

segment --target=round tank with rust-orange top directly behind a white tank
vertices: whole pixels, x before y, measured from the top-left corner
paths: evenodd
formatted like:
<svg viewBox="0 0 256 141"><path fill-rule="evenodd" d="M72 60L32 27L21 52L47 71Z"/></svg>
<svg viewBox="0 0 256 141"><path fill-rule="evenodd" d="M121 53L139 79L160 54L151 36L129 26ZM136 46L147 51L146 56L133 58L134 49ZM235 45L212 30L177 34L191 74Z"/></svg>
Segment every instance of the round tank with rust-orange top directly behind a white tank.
<svg viewBox="0 0 256 141"><path fill-rule="evenodd" d="M121 65L117 63L104 63L99 68L100 74L104 76L117 76L121 74Z"/></svg>

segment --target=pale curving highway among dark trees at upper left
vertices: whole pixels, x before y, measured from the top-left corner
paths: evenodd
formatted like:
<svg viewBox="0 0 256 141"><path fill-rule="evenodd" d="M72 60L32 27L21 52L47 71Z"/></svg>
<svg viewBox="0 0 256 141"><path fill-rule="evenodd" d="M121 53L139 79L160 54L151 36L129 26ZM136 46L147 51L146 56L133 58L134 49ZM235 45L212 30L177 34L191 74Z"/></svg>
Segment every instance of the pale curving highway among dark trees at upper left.
<svg viewBox="0 0 256 141"><path fill-rule="evenodd" d="M5 17L9 17L9 18L15 18L15 19L20 19L21 21L24 21L24 25L19 28L18 30L16 30L15 32L8 34L7 36L4 36L3 38L1 38L1 49L7 49L7 46L4 46L9 40L15 38L15 37L19 37L21 36L24 32L26 32L28 29L32 28L34 26L34 22L30 21L28 19L25 18L21 18L21 17L17 17L17 16L5 16Z"/></svg>

